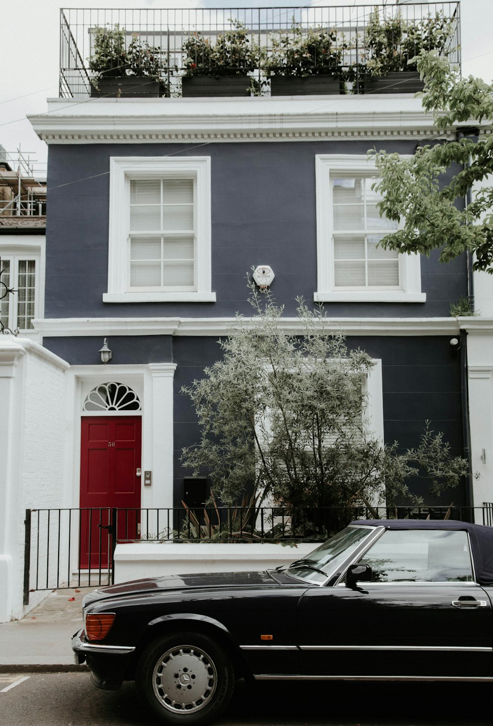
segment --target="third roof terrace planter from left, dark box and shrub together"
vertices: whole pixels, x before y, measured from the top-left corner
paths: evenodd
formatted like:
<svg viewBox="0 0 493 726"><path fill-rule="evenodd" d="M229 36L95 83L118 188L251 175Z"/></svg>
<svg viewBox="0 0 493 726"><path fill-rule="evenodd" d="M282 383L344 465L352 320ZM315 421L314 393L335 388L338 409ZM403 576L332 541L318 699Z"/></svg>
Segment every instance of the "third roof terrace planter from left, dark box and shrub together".
<svg viewBox="0 0 493 726"><path fill-rule="evenodd" d="M289 33L272 39L266 62L271 95L344 92L342 57L347 44L336 30L293 23Z"/></svg>

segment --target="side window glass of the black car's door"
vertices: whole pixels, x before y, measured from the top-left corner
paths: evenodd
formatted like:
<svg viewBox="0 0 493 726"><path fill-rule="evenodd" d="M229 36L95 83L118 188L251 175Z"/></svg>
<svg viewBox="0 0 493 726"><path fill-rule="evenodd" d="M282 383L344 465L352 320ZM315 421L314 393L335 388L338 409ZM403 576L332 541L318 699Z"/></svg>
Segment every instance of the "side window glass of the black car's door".
<svg viewBox="0 0 493 726"><path fill-rule="evenodd" d="M372 568L372 582L473 581L465 531L387 529L359 562Z"/></svg>

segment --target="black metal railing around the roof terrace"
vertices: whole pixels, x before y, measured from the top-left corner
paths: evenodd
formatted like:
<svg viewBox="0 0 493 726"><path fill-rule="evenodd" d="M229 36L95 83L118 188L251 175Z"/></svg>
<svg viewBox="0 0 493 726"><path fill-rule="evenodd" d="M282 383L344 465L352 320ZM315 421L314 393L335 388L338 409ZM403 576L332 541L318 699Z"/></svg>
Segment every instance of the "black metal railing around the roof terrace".
<svg viewBox="0 0 493 726"><path fill-rule="evenodd" d="M159 78L160 95L179 97L184 77L228 74L248 76L251 95L269 95L273 76L331 73L341 92L361 93L365 73L412 70L422 47L460 65L459 2L62 9L60 97L89 97L117 76Z"/></svg>

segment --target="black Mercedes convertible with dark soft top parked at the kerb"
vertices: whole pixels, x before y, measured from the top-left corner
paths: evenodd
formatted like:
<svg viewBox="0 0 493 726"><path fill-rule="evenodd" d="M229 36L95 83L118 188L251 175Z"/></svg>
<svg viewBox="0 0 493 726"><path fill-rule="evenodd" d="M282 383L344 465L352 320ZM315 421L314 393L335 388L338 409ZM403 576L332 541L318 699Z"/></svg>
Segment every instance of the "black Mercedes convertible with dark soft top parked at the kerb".
<svg viewBox="0 0 493 726"><path fill-rule="evenodd" d="M492 597L493 528L355 521L285 568L97 590L72 647L99 688L203 724L240 677L493 680Z"/></svg>

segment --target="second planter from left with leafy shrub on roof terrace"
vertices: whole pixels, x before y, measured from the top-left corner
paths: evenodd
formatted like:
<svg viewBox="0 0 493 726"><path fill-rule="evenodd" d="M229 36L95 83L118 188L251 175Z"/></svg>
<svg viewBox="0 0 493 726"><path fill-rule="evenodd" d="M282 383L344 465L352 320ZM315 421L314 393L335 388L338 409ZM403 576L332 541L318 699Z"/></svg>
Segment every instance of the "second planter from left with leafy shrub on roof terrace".
<svg viewBox="0 0 493 726"><path fill-rule="evenodd" d="M198 32L184 39L182 95L250 95L250 74L258 68L259 52L250 42L243 23L231 20L231 30L220 33L211 44Z"/></svg>

